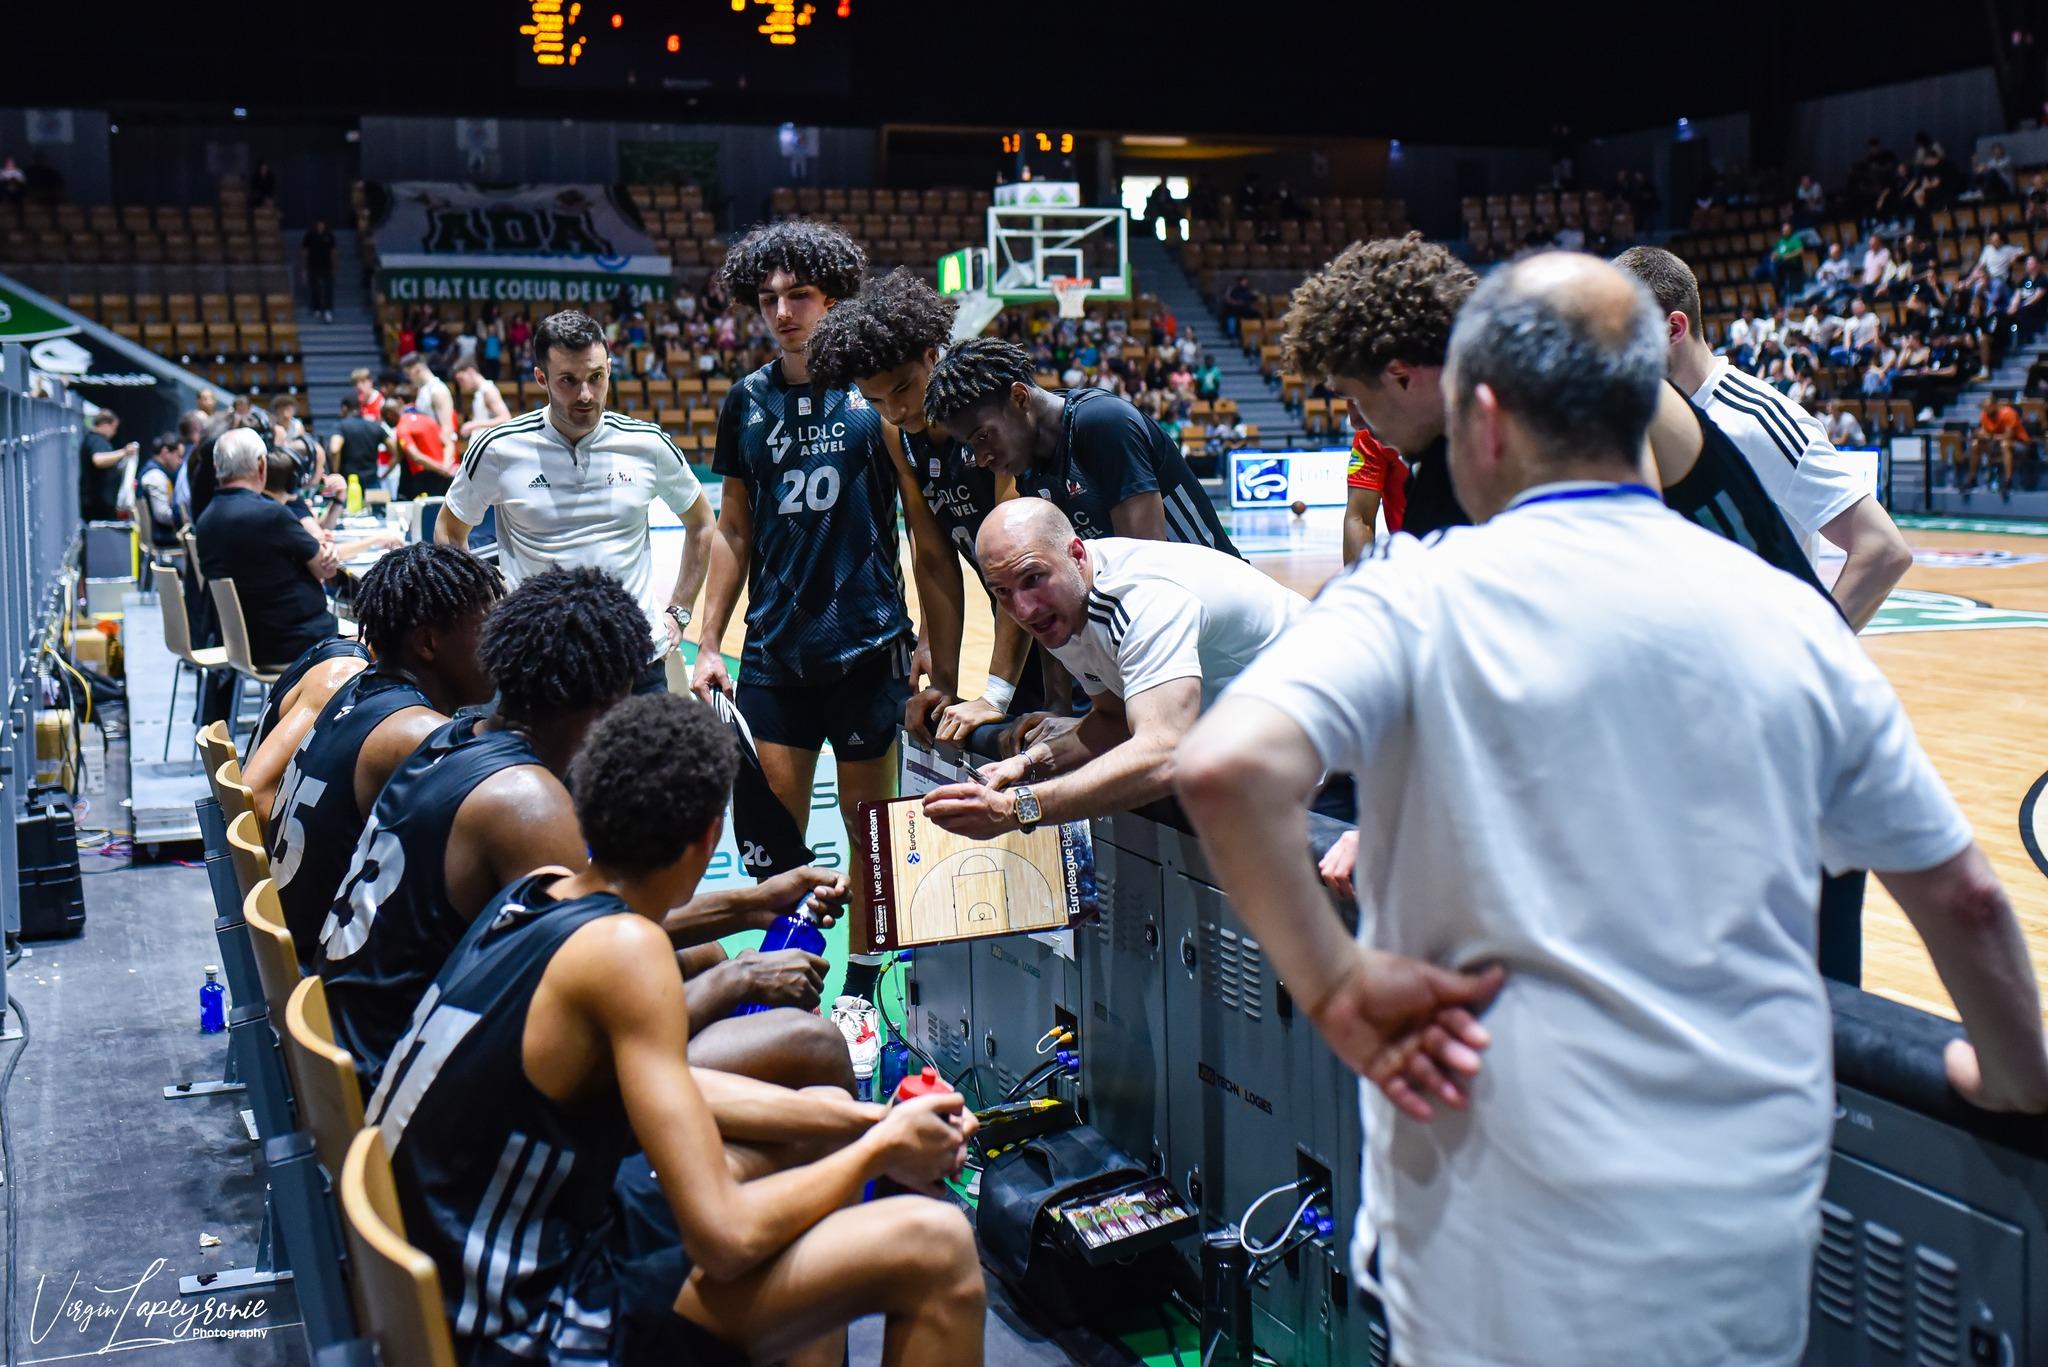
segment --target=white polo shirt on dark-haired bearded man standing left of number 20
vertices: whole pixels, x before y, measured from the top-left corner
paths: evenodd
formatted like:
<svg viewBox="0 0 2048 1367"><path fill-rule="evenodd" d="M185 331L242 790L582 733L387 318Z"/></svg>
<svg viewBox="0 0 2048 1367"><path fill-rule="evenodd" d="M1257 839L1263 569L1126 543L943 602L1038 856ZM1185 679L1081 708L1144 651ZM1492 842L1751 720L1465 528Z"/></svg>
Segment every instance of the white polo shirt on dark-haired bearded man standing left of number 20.
<svg viewBox="0 0 2048 1367"><path fill-rule="evenodd" d="M647 508L659 498L682 516L700 496L690 463L653 422L608 412L571 445L539 408L469 443L449 510L475 527L498 508L498 564L510 584L555 566L612 572L659 644L674 584L651 582Z"/></svg>

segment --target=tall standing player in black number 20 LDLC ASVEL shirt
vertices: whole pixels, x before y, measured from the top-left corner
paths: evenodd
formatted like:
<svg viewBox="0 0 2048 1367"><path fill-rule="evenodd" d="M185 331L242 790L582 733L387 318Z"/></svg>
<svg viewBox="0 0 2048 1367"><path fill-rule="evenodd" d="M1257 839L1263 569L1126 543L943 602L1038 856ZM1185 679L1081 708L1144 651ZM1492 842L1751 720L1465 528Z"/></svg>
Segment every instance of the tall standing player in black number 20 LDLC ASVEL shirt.
<svg viewBox="0 0 2048 1367"><path fill-rule="evenodd" d="M895 795L895 732L911 697L915 641L897 560L903 478L889 455L887 424L860 389L821 385L809 365L811 330L860 293L864 271L860 246L825 223L756 227L725 256L725 287L760 307L782 355L733 385L719 412L711 467L725 490L692 678L705 699L733 693L719 641L743 582L748 631L735 701L762 775L801 826L817 754L829 742L848 830L856 830L858 803ZM903 502L918 592L926 603L950 596L954 607L934 613L934 623L956 623L952 545L922 496ZM948 668L956 662L954 631ZM950 672L934 670L932 682L958 693ZM879 965L872 955L852 955L846 994L872 1000ZM860 1035L856 1023L848 1037Z"/></svg>

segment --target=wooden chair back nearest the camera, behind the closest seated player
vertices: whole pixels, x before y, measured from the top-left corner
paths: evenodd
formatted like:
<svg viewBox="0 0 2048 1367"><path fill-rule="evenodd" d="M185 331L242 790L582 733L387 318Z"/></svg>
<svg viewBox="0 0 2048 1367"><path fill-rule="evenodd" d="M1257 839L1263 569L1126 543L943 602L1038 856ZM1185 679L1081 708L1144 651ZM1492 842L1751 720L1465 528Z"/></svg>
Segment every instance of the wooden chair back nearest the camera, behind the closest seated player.
<svg viewBox="0 0 2048 1367"><path fill-rule="evenodd" d="M385 1363L455 1367L434 1260L406 1242L383 1133L356 1131L342 1164L342 1226L354 1265L356 1328Z"/></svg>

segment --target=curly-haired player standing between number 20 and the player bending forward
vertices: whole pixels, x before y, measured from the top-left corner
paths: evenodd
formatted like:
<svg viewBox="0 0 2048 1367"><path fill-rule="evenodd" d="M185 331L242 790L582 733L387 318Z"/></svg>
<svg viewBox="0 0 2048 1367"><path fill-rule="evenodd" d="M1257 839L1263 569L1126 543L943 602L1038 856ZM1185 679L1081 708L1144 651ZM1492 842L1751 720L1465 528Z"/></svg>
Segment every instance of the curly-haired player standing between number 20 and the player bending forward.
<svg viewBox="0 0 2048 1367"><path fill-rule="evenodd" d="M879 281L868 281L856 299L825 314L811 334L807 359L811 379L827 389L854 385L893 424L897 437L889 443L889 455L897 461L897 480L905 484L905 506L922 500L979 578L975 535L997 500L1016 498L1016 486L975 465L967 447L934 430L924 418L924 387L952 336L956 307L952 299L899 266ZM944 576L948 588L958 594L961 568L952 555L946 557ZM958 650L958 607L934 603L922 584L918 607L926 646L936 660L934 672L958 678L956 654L946 654ZM950 617L940 621L944 613ZM1026 670L1028 650L1030 637L1024 627L997 613L995 652L983 695L954 701L936 682L928 685L909 701L905 730L930 740L932 723L938 721L938 740L963 742L977 726L999 721L1014 707L1036 707L1038 670ZM1020 682L1026 693L1022 699L1016 697Z"/></svg>

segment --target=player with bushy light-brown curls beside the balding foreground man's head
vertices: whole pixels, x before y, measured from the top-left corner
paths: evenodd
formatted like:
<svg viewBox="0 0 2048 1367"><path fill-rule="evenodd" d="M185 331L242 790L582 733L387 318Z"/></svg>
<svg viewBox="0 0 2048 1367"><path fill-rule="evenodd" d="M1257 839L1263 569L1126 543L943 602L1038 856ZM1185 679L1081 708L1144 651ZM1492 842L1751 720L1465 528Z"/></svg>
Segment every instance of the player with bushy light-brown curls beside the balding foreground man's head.
<svg viewBox="0 0 2048 1367"><path fill-rule="evenodd" d="M1284 363L1352 406L1411 467L1403 531L1470 523L1444 453L1444 355L1479 277L1421 234L1354 242L1294 291Z"/></svg>

